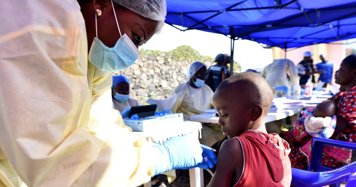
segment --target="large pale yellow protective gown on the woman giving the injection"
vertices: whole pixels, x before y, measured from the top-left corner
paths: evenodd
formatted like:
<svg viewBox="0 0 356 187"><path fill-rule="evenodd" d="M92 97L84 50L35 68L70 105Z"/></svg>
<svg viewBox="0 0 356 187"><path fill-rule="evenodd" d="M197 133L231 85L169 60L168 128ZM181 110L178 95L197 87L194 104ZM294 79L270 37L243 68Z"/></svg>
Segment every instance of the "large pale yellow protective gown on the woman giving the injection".
<svg viewBox="0 0 356 187"><path fill-rule="evenodd" d="M77 1L12 0L2 6L0 186L148 181L151 143L111 109L111 72L87 62Z"/></svg>

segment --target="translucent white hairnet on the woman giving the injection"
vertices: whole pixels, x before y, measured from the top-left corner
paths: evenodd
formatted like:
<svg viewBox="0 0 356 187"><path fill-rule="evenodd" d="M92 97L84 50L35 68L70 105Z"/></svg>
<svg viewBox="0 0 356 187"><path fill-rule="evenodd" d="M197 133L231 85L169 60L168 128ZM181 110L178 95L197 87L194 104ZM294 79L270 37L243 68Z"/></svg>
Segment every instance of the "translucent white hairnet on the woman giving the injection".
<svg viewBox="0 0 356 187"><path fill-rule="evenodd" d="M160 33L167 14L166 0L112 0L117 4L152 20L158 21L156 34Z"/></svg>

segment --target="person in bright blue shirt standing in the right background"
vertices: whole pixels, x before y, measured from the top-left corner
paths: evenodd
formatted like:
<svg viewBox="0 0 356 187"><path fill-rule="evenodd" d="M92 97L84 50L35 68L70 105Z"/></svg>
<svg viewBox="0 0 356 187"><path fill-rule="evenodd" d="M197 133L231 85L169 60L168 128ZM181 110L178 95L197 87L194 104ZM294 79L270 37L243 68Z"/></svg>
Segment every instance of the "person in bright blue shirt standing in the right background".
<svg viewBox="0 0 356 187"><path fill-rule="evenodd" d="M330 84L331 80L333 80L334 64L329 61L328 54L326 53L320 54L320 59L322 62L315 64L315 66L319 72L324 73L320 73L318 82L324 82L324 87L326 87L326 85Z"/></svg>

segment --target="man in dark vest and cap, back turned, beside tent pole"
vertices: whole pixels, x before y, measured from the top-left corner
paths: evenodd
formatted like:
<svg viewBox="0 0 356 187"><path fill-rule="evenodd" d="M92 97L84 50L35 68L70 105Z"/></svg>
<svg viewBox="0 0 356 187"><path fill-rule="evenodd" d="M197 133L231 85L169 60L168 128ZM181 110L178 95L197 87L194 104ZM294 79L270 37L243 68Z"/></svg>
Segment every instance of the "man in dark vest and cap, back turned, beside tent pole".
<svg viewBox="0 0 356 187"><path fill-rule="evenodd" d="M215 92L218 85L226 79L226 57L225 54L218 54L215 57L216 64L208 69L208 78L205 79L205 84L209 85L211 90Z"/></svg>

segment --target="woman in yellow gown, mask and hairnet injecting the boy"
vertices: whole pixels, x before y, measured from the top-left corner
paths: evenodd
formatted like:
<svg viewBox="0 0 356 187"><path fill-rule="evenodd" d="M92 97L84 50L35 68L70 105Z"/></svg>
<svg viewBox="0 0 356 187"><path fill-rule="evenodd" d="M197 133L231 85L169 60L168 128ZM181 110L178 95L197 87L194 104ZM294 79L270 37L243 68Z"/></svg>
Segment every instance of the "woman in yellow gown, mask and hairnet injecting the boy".
<svg viewBox="0 0 356 187"><path fill-rule="evenodd" d="M197 137L162 144L111 109L112 71L159 33L165 0L3 1L0 186L138 186L172 169L208 168Z"/></svg>

